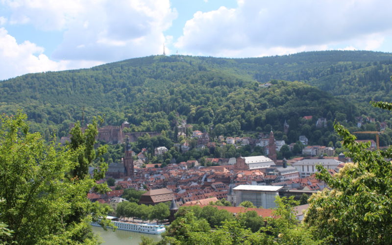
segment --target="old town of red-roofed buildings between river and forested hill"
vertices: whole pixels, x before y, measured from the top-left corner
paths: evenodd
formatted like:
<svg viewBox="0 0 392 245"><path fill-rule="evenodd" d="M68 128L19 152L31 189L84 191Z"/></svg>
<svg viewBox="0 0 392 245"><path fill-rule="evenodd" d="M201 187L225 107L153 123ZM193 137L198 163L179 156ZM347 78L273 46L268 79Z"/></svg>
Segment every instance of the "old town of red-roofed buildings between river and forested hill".
<svg viewBox="0 0 392 245"><path fill-rule="evenodd" d="M305 120L311 120L312 116L305 116ZM374 119L365 119L374 123ZM364 120L364 121L365 121ZM361 127L362 118L358 118L358 127ZM316 127L325 127L327 120L319 118ZM218 136L215 141L210 139L208 133L199 130L189 131L192 128L182 120L177 126L177 136L182 137L183 143L174 143L173 147L180 152L190 150L190 141L193 147L203 150L206 147L225 147L232 145L236 148L245 146L261 147L263 155L239 156L230 158L204 157L199 160L187 160L177 162L172 158L170 163L150 163L147 155L160 157L169 152L165 146L155 147L153 154L147 154L146 148L139 153L131 150L130 143L136 142L143 135L158 136L158 132L127 132L129 123L124 122L121 126L104 126L98 129L98 141L124 145L123 157L119 162L109 164L106 178L99 183L107 182L112 191L106 194L91 192L88 198L92 201L107 203L116 214L118 203L125 201L122 198L124 190L133 189L145 191L138 201L139 204L156 205L162 202L174 202L177 206L182 205L207 205L218 200L227 200L233 207L239 206L244 201L250 201L255 207L262 209L276 208L275 196L294 196L301 200L301 209L306 209L306 200L309 196L324 188L328 188L323 181L316 178L316 166L322 165L331 175L336 174L351 159L346 158L341 152L335 154L334 147L309 146L305 135L298 138L297 143L286 145L284 140L275 140L274 134L259 134L258 139L251 137L226 137ZM379 123L380 130L385 130L386 123ZM125 130L124 130L125 129ZM283 132L287 134L289 124L285 121ZM62 142L68 141L63 137ZM370 148L375 148L374 140L358 140L358 142L370 142ZM196 144L195 144L196 143ZM286 159L277 159L277 152L282 147L287 147L290 152L295 145L300 144L300 156ZM298 147L298 146L297 146ZM161 157L161 159L163 159ZM90 172L94 167L90 167ZM109 181L112 179L112 181ZM305 201L303 201L305 200ZM237 209L221 207L232 213L241 212ZM271 215L271 212L261 212L261 215ZM243 210L244 211L244 210ZM301 220L302 212L298 212L298 220Z"/></svg>

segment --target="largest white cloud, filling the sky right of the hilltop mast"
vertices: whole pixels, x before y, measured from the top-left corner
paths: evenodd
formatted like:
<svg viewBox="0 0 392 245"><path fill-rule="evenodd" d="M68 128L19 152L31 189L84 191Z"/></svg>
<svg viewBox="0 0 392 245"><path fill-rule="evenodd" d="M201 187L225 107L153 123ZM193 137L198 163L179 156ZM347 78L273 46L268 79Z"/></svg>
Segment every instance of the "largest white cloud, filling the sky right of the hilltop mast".
<svg viewBox="0 0 392 245"><path fill-rule="evenodd" d="M377 49L392 29L391 10L387 0L238 0L233 9L196 12L175 47L226 57L330 49L343 43L341 47Z"/></svg>

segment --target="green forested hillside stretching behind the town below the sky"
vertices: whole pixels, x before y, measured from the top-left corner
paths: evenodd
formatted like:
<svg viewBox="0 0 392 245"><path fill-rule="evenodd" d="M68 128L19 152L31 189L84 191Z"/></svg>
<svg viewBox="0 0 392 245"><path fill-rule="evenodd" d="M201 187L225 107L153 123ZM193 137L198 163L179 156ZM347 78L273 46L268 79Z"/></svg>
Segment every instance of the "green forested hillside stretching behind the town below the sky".
<svg viewBox="0 0 392 245"><path fill-rule="evenodd" d="M391 100L391 74L392 54L370 51L244 59L149 56L1 81L0 112L22 108L32 130L48 137L53 131L66 135L83 110L87 119L104 114L107 124L126 120L134 131L172 129L181 118L206 130L222 126L225 134L282 130L284 120L295 125L306 115L333 120L341 113L353 122L366 113L358 103ZM270 87L259 87L271 80ZM295 80L301 82L289 82ZM390 119L386 113L370 116Z"/></svg>

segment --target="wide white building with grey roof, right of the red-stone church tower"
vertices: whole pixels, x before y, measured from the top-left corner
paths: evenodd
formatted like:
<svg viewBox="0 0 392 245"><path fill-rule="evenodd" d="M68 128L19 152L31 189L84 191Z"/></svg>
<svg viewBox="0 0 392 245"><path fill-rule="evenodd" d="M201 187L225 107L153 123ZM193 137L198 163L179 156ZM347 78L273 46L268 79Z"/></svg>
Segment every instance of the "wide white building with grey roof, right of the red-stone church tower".
<svg viewBox="0 0 392 245"><path fill-rule="evenodd" d="M316 169L317 165L322 165L322 167L326 169L336 169L339 164L342 163L343 162L335 159L303 159L293 163L292 166L297 169L301 175L301 178L305 178L318 172Z"/></svg>

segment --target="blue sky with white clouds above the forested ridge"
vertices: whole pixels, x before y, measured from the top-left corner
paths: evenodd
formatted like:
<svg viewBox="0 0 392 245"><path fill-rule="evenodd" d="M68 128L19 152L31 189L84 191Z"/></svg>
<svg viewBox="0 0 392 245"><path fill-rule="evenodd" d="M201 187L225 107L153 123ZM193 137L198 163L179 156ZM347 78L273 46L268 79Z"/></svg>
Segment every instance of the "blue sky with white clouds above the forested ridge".
<svg viewBox="0 0 392 245"><path fill-rule="evenodd" d="M391 13L390 0L0 0L0 80L164 50L232 58L391 52Z"/></svg>

